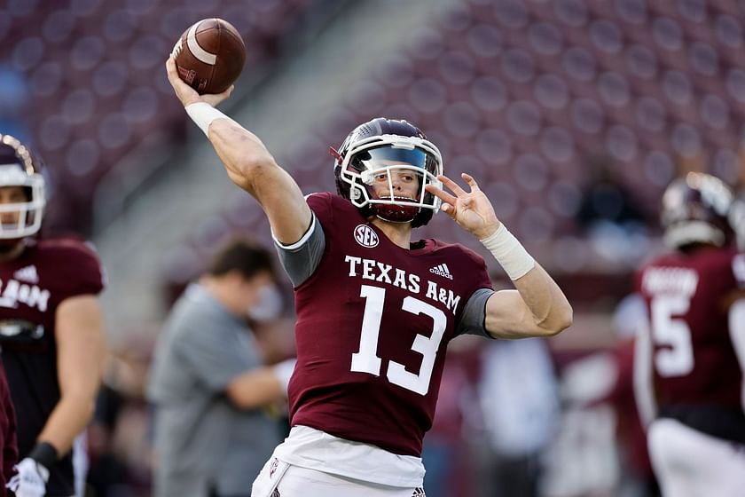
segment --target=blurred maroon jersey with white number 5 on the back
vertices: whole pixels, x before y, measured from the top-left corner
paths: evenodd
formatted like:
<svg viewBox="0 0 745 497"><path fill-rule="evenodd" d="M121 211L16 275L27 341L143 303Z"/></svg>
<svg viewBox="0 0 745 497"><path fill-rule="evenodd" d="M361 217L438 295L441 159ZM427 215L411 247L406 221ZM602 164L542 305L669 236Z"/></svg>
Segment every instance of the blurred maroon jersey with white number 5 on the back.
<svg viewBox="0 0 745 497"><path fill-rule="evenodd" d="M745 285L745 255L730 248L672 253L644 267L636 283L650 317L660 408L724 406L741 412L743 373L727 304Z"/></svg>

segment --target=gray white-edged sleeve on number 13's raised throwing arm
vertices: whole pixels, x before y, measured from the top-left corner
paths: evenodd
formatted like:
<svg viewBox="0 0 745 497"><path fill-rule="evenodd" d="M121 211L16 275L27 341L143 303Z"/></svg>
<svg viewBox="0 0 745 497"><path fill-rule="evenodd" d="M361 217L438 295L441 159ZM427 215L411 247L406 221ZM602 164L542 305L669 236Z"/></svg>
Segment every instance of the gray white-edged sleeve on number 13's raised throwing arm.
<svg viewBox="0 0 745 497"><path fill-rule="evenodd" d="M297 288L310 278L321 263L325 250L324 229L313 214L308 231L299 241L292 245L283 245L275 238L274 244L277 246L280 264L293 282L293 287Z"/></svg>

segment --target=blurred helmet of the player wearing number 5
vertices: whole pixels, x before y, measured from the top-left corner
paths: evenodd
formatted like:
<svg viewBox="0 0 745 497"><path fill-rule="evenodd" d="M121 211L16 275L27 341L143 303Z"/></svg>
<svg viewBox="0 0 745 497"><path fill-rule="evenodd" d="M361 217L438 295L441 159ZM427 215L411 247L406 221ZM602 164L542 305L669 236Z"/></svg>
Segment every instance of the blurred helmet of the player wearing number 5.
<svg viewBox="0 0 745 497"><path fill-rule="evenodd" d="M718 177L689 172L663 194L661 221L670 248L696 243L724 247L733 241L733 193Z"/></svg>

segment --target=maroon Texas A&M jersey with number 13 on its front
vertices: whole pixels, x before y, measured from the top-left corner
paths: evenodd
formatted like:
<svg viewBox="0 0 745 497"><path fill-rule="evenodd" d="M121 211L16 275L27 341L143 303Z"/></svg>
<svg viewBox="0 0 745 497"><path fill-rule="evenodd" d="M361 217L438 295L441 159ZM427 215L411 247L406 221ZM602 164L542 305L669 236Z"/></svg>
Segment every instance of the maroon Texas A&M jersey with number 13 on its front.
<svg viewBox="0 0 745 497"><path fill-rule="evenodd" d="M308 204L325 252L295 288L293 425L420 455L447 344L468 298L491 288L481 256L435 240L396 246L341 197Z"/></svg>

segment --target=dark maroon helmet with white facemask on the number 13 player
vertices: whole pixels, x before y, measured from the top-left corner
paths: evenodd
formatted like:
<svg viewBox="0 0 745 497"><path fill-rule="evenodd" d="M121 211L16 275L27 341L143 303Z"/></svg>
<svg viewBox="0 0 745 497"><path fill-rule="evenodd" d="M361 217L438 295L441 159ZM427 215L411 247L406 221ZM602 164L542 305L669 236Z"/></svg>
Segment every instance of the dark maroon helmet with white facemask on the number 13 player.
<svg viewBox="0 0 745 497"><path fill-rule="evenodd" d="M424 185L442 184L440 151L424 133L410 122L378 117L360 124L349 133L339 150L333 174L339 194L351 201L362 215L377 216L394 223L411 222L413 227L427 225L440 208L440 199L427 193ZM394 173L407 171L419 181L417 198L396 196ZM372 188L375 178L388 178L388 195Z"/></svg>

